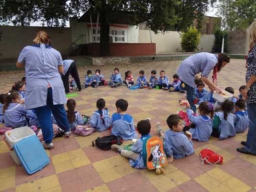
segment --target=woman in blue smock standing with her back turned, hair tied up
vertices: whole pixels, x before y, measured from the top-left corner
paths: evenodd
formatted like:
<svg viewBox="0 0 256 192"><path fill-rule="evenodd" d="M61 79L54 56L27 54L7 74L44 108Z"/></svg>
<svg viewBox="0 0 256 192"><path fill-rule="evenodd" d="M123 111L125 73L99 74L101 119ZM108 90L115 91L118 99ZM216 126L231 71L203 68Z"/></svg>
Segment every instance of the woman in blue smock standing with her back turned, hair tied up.
<svg viewBox="0 0 256 192"><path fill-rule="evenodd" d="M37 32L34 42L36 44L23 48L16 66L25 67L25 109L35 109L43 133L43 146L53 149L51 111L65 136L69 137L71 133L63 105L67 102L60 76L63 61L60 52L49 46L46 32Z"/></svg>

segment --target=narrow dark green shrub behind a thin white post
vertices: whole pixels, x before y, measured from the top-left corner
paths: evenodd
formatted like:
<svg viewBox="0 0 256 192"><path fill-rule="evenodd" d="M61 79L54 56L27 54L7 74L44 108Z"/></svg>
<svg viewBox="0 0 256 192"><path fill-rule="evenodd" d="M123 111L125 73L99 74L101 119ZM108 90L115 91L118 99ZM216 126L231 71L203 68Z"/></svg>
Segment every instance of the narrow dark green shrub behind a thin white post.
<svg viewBox="0 0 256 192"><path fill-rule="evenodd" d="M227 52L228 50L228 31L221 31L220 29L216 29L214 31L214 44L212 47L212 52L214 53L220 53L221 47L222 47L222 38L224 36L224 52Z"/></svg>

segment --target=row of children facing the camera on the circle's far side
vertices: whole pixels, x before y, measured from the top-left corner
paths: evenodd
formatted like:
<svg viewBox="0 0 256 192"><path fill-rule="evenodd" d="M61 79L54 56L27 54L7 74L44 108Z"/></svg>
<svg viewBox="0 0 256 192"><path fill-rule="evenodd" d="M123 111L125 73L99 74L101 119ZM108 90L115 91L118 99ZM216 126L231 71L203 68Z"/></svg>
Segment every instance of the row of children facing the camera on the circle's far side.
<svg viewBox="0 0 256 192"><path fill-rule="evenodd" d="M158 88L163 90L169 90L170 92L179 91L181 93L185 93L184 84L179 79L177 74L173 75L173 81L169 82L167 76L164 71L160 71L159 77L157 76L156 70L151 71L151 76L149 81L146 80L146 75L143 70L139 71L139 76L137 81L134 81L134 76L131 71L125 72L125 78L122 80L122 76L119 73L119 69L115 68L114 72L110 76L110 81L104 78L102 74L100 74L100 70L97 69L95 71L95 75L92 75L92 71L88 70L85 75L85 83L84 87L87 88L89 86L98 87L99 85L110 85L111 87L117 87L123 84L127 87L136 86L137 88Z"/></svg>

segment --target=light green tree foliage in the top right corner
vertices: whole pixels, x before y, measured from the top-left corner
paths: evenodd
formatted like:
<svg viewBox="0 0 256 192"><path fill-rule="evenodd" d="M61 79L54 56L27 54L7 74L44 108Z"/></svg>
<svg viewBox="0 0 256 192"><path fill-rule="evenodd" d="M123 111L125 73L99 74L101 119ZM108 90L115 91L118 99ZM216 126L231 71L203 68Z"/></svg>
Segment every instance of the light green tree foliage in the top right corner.
<svg viewBox="0 0 256 192"><path fill-rule="evenodd" d="M224 30L244 30L256 19L255 0L219 0L217 8Z"/></svg>

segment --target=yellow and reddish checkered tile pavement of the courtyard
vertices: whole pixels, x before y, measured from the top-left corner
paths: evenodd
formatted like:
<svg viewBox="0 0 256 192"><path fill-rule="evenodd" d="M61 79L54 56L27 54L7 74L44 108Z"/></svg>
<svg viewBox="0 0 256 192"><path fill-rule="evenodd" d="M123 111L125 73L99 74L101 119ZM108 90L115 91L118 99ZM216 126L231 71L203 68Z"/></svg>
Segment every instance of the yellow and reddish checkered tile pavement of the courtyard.
<svg viewBox="0 0 256 192"><path fill-rule="evenodd" d="M149 77L150 71L165 70L168 77L176 71L180 61L133 63L117 66L91 67L101 69L109 76L114 67L119 67L122 76L130 69L134 77L144 69ZM221 87L233 86L238 93L244 84L245 61L231 60L219 73ZM82 79L87 69L79 68ZM24 72L1 73L0 89L8 91L13 82L20 80ZM170 78L171 79L171 78ZM91 116L96 110L96 100L104 98L112 114L119 98L128 100L128 113L135 123L147 117L152 119L151 134L156 135L155 123L160 121L166 130L166 119L178 110L178 101L183 94L163 90L128 90L124 86L110 88L86 88L79 96L73 97L77 110ZM4 192L253 192L256 191L256 156L236 152L240 141L246 139L246 132L219 141L210 138L209 142L194 143L195 154L175 159L165 167L165 174L156 175L154 171L131 168L128 160L114 151L102 151L92 146L98 136L110 132L95 132L90 136L74 136L69 139L54 139L55 149L47 151L50 158L48 166L33 175L27 175L22 166L16 166L9 156L7 146L0 141L0 191ZM124 142L124 145L131 142ZM202 165L199 151L209 148L223 156L223 165Z"/></svg>

